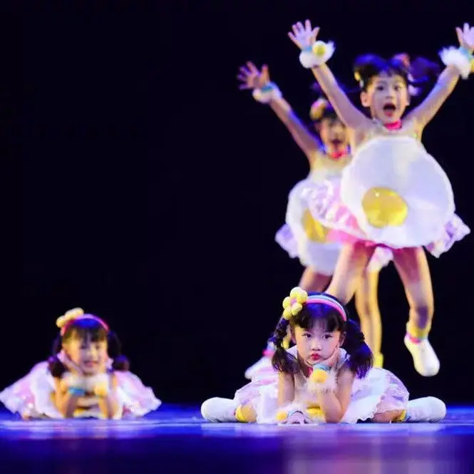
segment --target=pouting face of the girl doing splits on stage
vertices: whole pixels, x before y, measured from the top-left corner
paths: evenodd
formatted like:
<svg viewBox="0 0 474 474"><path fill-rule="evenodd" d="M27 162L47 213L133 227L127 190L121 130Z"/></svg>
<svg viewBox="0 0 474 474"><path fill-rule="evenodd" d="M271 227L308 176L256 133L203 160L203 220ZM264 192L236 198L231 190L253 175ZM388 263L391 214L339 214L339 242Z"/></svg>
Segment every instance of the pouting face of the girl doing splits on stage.
<svg viewBox="0 0 474 474"><path fill-rule="evenodd" d="M327 331L323 321L316 321L311 329L294 328L294 341L299 357L314 366L329 359L341 347L344 338L341 331Z"/></svg>

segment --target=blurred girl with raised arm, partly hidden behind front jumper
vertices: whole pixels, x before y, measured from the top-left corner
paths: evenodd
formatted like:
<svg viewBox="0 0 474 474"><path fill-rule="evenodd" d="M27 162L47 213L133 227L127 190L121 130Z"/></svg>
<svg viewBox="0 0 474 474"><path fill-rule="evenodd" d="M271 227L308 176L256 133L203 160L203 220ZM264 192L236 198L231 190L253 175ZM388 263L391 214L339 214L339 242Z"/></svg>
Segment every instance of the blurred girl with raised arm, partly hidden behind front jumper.
<svg viewBox="0 0 474 474"><path fill-rule="evenodd" d="M311 133L282 97L278 86L270 81L267 66L262 66L259 71L254 63L248 62L239 69L237 78L242 82L240 89L252 90L257 102L269 105L309 161L309 176L298 182L289 193L287 224L277 232L276 240L290 257L299 257L305 267L299 286L309 292L322 292L331 280L341 244L327 242L327 229L311 217L306 202L302 199L302 192L308 181L321 183L328 178L341 178L342 170L351 160L346 127L337 117L334 108L324 98L319 98L311 106L309 113L317 135ZM380 367L383 356L377 299L378 274L390 260L390 251L378 249L356 291L356 309L361 328L375 356L375 365ZM267 344L264 356L247 369L245 377L252 379L258 371L271 368L273 352L273 344Z"/></svg>

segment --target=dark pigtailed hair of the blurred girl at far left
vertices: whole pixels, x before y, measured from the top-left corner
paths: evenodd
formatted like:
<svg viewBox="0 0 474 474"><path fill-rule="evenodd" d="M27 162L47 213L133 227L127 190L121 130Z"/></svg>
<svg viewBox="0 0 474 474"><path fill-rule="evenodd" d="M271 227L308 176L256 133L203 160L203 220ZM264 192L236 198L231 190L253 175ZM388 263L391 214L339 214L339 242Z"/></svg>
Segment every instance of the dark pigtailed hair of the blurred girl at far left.
<svg viewBox="0 0 474 474"><path fill-rule="evenodd" d="M55 378L60 378L68 371L67 367L58 359L58 353L63 343L70 339L91 338L92 342L107 341L108 356L113 359L112 369L115 371L128 371L130 362L122 355L122 344L117 334L108 331L100 321L92 318L78 318L68 325L63 336L58 335L53 342L53 355L48 359L48 369Z"/></svg>

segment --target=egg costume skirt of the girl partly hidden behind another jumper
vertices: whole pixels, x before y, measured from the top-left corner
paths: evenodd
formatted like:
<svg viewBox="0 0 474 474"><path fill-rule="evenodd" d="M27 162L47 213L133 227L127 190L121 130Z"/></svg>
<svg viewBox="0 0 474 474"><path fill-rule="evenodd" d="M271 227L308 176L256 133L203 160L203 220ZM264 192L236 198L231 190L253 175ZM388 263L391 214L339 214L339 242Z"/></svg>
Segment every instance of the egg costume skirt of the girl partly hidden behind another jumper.
<svg viewBox="0 0 474 474"><path fill-rule="evenodd" d="M339 182L339 178L334 178ZM302 180L289 193L286 224L275 236L277 243L292 258L299 258L304 267L331 276L334 274L341 242L331 239L331 230L321 222L314 220L306 202L305 190L311 182L310 178ZM319 195L318 200L324 200ZM389 249L378 248L369 263L369 272L377 272L393 259Z"/></svg>

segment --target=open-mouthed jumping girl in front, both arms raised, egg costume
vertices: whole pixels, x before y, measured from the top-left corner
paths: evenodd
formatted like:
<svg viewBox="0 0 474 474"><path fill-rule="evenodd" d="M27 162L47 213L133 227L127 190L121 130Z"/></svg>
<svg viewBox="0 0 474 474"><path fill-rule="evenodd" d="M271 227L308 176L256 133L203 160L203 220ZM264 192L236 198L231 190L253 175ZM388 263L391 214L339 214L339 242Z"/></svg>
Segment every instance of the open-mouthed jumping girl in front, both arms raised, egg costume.
<svg viewBox="0 0 474 474"><path fill-rule="evenodd" d="M421 135L459 76L468 77L474 29L466 24L463 31L456 30L460 48L441 52L445 70L427 98L403 121L401 116L411 99L411 71L403 61L366 56L356 64L361 102L372 117L367 118L349 101L326 66L334 45L316 41L318 31L306 21L304 26L294 25L289 37L302 49L302 65L311 68L346 124L354 153L340 185L326 180L307 193L314 217L340 231L338 238L347 242L327 292L348 302L374 250L390 248L410 305L406 347L418 373L436 375L440 364L428 341L433 290L423 246L438 257L470 230L454 214L448 177L426 153Z"/></svg>

